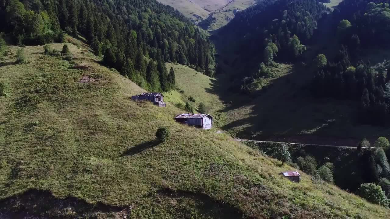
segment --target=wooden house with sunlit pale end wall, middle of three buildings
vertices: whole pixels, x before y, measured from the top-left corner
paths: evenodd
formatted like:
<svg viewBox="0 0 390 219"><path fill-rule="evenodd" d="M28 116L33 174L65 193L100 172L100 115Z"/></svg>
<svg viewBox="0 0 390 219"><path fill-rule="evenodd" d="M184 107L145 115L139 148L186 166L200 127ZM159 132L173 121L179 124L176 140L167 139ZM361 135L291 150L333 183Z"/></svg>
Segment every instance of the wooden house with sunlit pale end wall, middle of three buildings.
<svg viewBox="0 0 390 219"><path fill-rule="evenodd" d="M211 129L213 117L209 114L181 114L175 117L176 122L199 127L201 129Z"/></svg>

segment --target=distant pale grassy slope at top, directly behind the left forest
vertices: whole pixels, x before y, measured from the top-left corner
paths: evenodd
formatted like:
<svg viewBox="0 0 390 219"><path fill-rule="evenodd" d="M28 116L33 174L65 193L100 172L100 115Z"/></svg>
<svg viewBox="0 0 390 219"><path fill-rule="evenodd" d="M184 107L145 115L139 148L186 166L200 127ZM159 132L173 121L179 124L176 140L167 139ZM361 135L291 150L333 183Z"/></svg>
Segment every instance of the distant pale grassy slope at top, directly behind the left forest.
<svg viewBox="0 0 390 219"><path fill-rule="evenodd" d="M187 18L199 22L203 19L206 19L209 16L209 12L203 9L200 5L191 2L190 0L158 0L164 5L170 5L175 9L179 10ZM200 18L197 18L193 15L198 15Z"/></svg>

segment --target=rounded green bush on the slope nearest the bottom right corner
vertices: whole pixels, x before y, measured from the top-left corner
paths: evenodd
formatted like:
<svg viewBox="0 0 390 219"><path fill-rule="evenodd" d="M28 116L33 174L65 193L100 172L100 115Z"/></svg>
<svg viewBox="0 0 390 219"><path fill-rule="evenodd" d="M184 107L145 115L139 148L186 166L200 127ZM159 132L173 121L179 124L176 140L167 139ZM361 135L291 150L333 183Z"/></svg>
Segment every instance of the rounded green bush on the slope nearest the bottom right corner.
<svg viewBox="0 0 390 219"><path fill-rule="evenodd" d="M358 193L367 201L388 208L389 200L386 197L385 191L383 191L379 185L375 185L375 183L360 184Z"/></svg>

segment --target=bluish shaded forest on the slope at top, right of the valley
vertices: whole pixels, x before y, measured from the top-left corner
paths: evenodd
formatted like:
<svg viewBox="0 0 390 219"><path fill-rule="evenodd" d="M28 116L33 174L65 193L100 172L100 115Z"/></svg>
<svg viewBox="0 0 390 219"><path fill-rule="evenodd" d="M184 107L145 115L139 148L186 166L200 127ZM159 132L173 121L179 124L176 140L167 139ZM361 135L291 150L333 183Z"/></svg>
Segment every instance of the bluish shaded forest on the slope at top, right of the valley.
<svg viewBox="0 0 390 219"><path fill-rule="evenodd" d="M261 1L238 12L220 31L220 36L229 36L226 38L238 57L229 64L243 72L240 78L255 79L267 76L261 63L296 61L306 49L301 43L312 37L325 12L326 7L317 0ZM243 81L244 87L246 83L250 81Z"/></svg>

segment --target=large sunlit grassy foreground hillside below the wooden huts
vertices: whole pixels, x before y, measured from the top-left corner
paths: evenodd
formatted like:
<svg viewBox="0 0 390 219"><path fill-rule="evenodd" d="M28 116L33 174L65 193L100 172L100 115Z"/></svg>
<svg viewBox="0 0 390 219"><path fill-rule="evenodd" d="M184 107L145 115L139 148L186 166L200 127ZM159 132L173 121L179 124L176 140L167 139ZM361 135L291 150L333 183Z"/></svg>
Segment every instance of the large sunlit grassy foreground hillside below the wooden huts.
<svg viewBox="0 0 390 219"><path fill-rule="evenodd" d="M390 216L333 185L314 189L308 175L285 180L278 173L293 168L226 134L177 124L181 110L170 104L131 101L144 90L88 49L69 48L73 61L44 55L43 46L25 48L24 64L13 63L14 46L2 60L2 218ZM154 136L162 125L164 143Z"/></svg>

